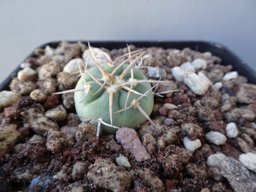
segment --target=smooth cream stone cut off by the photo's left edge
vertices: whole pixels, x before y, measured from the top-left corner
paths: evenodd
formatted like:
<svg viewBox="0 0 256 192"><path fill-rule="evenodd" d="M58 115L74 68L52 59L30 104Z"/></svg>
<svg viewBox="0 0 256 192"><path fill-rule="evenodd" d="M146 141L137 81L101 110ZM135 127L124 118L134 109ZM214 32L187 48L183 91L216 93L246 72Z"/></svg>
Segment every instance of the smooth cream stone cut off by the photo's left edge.
<svg viewBox="0 0 256 192"><path fill-rule="evenodd" d="M21 98L21 94L13 91L0 92L0 108L10 107Z"/></svg>

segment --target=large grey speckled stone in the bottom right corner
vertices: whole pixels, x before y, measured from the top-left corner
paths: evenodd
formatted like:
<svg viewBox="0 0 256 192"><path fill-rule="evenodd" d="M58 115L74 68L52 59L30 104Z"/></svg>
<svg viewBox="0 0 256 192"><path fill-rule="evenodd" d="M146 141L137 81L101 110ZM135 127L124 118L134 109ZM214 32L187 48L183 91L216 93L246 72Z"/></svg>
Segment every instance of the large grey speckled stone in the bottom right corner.
<svg viewBox="0 0 256 192"><path fill-rule="evenodd" d="M220 162L220 173L234 191L256 191L256 175L234 158L227 157Z"/></svg>

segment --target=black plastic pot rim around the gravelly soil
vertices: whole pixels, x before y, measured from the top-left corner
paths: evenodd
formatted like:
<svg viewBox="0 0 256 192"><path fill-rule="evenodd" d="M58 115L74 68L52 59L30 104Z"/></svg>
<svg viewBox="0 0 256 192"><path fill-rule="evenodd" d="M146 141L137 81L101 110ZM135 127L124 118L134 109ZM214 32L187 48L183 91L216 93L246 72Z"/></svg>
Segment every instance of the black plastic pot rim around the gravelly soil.
<svg viewBox="0 0 256 192"><path fill-rule="evenodd" d="M75 43L77 41L69 41ZM50 42L39 46L45 48L46 45L56 48L60 42ZM87 41L83 43L87 44ZM186 47L199 52L211 52L213 55L219 56L222 59L222 65L232 65L233 71L237 71L239 75L245 76L249 83L256 84L256 73L244 61L238 58L233 52L222 44L205 42L205 41L90 41L93 47L105 47L109 50L126 47L126 44L134 44L136 47L162 47L164 49L176 48L183 49ZM33 57L32 52L27 58ZM26 59L27 59L26 58ZM17 67L12 74L0 84L0 91L9 90L9 84L12 77L17 76L20 67Z"/></svg>

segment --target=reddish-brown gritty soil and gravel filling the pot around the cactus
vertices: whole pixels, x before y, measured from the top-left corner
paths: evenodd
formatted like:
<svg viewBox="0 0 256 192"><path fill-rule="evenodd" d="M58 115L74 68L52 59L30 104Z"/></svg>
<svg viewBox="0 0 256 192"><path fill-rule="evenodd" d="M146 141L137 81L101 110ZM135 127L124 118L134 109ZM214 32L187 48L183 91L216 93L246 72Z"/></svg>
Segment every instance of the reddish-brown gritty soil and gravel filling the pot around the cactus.
<svg viewBox="0 0 256 192"><path fill-rule="evenodd" d="M148 51L140 68L148 78L173 82L156 92L179 91L155 96L157 128L147 121L97 139L97 127L75 116L73 93L52 95L75 87L67 63L87 49L61 42L35 50L12 80L15 94L0 93L0 191L256 191L255 160L239 158L256 154L256 85L210 52L130 45ZM128 53L101 50L113 60ZM172 70L193 61L193 72L210 81L203 93Z"/></svg>

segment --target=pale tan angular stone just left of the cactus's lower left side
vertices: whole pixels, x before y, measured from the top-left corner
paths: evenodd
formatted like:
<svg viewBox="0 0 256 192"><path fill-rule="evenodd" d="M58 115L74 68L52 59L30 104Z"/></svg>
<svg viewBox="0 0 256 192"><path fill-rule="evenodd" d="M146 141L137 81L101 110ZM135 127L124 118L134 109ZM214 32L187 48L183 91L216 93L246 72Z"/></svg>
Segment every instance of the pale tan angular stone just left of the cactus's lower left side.
<svg viewBox="0 0 256 192"><path fill-rule="evenodd" d="M51 108L45 112L45 116L54 121L62 121L66 118L67 112L63 105L58 105L55 108Z"/></svg>

